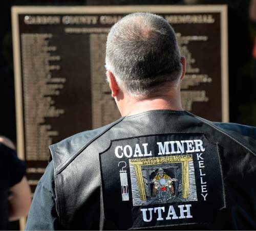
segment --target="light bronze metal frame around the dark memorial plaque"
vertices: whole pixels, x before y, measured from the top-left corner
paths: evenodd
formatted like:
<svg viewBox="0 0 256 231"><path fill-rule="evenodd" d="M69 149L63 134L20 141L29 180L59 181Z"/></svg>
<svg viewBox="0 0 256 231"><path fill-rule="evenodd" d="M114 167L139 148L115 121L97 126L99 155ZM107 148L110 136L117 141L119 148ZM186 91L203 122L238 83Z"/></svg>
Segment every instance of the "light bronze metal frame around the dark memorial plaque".
<svg viewBox="0 0 256 231"><path fill-rule="evenodd" d="M24 153L24 115L22 93L22 64L20 60L19 14L103 14L103 13L220 13L221 17L221 91L222 91L222 122L229 121L228 98L228 34L227 34L227 6L226 5L144 5L144 6L77 6L77 7L41 7L41 6L13 6L12 38L15 79L15 107L17 130L18 157L25 159Z"/></svg>

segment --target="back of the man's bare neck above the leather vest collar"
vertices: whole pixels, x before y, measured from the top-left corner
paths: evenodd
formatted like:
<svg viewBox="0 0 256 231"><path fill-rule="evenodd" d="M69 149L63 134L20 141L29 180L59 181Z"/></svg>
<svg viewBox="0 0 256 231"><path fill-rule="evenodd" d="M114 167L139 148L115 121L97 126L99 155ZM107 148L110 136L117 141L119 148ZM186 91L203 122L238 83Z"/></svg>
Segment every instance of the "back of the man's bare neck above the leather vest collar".
<svg viewBox="0 0 256 231"><path fill-rule="evenodd" d="M138 114L149 110L183 110L181 106L180 94L143 100L138 100L132 97L125 97L123 102L119 103L118 106L122 116L131 116L133 114Z"/></svg>

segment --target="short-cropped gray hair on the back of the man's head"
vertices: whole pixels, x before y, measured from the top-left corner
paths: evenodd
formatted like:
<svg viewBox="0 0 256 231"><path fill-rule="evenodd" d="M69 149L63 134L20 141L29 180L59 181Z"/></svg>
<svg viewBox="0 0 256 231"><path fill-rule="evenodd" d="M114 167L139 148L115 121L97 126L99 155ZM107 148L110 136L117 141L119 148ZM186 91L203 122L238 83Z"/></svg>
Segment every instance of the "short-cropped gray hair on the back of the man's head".
<svg viewBox="0 0 256 231"><path fill-rule="evenodd" d="M150 96L181 76L176 35L170 24L152 13L133 13L119 20L106 41L106 68L121 89Z"/></svg>

